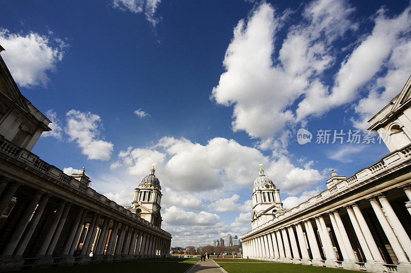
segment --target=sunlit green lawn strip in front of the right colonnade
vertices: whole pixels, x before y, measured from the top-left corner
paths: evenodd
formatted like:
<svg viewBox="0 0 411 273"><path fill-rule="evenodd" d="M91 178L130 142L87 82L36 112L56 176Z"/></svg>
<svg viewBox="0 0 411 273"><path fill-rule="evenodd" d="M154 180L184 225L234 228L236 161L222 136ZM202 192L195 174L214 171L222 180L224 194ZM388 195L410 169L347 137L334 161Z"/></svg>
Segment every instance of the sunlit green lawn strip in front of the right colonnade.
<svg viewBox="0 0 411 273"><path fill-rule="evenodd" d="M216 259L222 260L222 259ZM226 259L224 259L226 260ZM227 259L228 260L228 259ZM234 259L233 259L234 260ZM237 259L240 260L240 259ZM265 272L334 272L334 273L344 273L344 272L357 272L345 269L336 269L320 266L311 266L311 265L300 265L300 264L284 264L284 263L247 263L254 262L255 260L243 260L244 263L225 263L218 261L218 265L221 266L228 273L265 273ZM216 261L217 262L217 261ZM240 261L236 261L240 262ZM264 261L261 261L264 262Z"/></svg>

